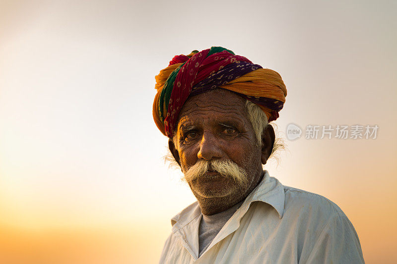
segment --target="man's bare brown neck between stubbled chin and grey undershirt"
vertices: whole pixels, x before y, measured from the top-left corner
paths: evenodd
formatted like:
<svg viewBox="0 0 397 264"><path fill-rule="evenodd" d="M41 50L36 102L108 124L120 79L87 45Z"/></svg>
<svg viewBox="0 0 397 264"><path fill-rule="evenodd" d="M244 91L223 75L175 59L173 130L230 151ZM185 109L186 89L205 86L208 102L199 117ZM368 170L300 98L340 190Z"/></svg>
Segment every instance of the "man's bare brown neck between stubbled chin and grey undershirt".
<svg viewBox="0 0 397 264"><path fill-rule="evenodd" d="M241 201L244 201L247 198L247 196L262 181L264 175L265 175L265 171L262 171L261 176L257 177L257 179L252 182L251 186L247 189L247 191L240 196L236 196L235 194L232 194L230 196L225 196L225 197L204 198L194 193L194 195L197 198L197 201L199 202L201 213L205 215L212 215L215 213L228 210L229 208L240 203Z"/></svg>

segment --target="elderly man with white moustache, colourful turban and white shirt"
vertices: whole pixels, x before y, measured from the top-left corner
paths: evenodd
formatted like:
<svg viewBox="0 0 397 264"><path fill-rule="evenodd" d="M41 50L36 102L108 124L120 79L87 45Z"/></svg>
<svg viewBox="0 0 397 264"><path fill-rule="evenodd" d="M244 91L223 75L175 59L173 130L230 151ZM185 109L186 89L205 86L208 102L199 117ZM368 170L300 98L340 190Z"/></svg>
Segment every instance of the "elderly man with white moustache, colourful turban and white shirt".
<svg viewBox="0 0 397 264"><path fill-rule="evenodd" d="M160 263L364 263L334 203L263 170L287 93L278 73L212 47L156 81L154 120L197 198L172 218Z"/></svg>

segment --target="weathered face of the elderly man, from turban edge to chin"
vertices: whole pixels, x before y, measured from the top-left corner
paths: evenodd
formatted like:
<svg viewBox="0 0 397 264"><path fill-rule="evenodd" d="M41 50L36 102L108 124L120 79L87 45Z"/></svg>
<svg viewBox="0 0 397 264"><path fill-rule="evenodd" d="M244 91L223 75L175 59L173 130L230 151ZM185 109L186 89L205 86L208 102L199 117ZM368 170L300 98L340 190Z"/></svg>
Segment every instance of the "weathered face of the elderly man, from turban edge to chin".
<svg viewBox="0 0 397 264"><path fill-rule="evenodd" d="M245 102L232 92L215 90L190 98L180 112L175 147L185 176L195 164L219 160L234 163L247 177L243 184L221 175L209 165L202 177L186 177L198 199L238 200L247 195L253 182L261 176L261 146L247 117Z"/></svg>

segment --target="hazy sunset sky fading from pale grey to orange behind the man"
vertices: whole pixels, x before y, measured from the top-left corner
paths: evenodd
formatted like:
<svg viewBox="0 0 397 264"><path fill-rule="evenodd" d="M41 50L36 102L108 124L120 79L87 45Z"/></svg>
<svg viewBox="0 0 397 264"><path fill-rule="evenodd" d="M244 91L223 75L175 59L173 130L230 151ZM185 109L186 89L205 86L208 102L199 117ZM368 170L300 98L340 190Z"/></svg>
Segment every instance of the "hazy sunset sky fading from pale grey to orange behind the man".
<svg viewBox="0 0 397 264"><path fill-rule="evenodd" d="M286 150L265 165L353 223L394 263L395 1L0 1L0 263L157 263L195 202L152 118L174 55L221 46L282 76ZM303 129L286 138L288 124ZM377 125L376 139L306 139Z"/></svg>

